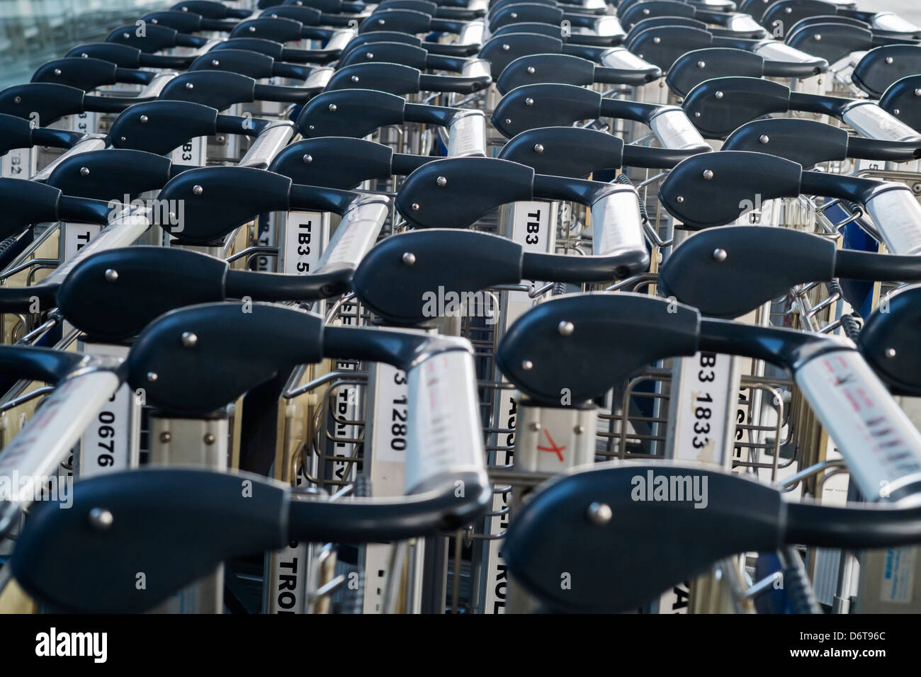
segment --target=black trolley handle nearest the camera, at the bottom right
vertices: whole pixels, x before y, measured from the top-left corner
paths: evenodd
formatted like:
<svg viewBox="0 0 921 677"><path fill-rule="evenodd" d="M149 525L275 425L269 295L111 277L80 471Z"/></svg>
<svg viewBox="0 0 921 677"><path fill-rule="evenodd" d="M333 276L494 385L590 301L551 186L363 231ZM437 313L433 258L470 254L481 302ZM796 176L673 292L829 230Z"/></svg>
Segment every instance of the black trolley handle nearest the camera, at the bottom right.
<svg viewBox="0 0 921 677"><path fill-rule="evenodd" d="M670 500L655 499L663 488ZM601 507L617 519L592 519ZM512 521L503 555L512 577L555 611L625 612L732 554L918 543L919 518L916 506L791 503L773 487L700 466L611 463L544 484ZM572 547L560 548L561 538ZM560 571L586 587L561 590Z"/></svg>

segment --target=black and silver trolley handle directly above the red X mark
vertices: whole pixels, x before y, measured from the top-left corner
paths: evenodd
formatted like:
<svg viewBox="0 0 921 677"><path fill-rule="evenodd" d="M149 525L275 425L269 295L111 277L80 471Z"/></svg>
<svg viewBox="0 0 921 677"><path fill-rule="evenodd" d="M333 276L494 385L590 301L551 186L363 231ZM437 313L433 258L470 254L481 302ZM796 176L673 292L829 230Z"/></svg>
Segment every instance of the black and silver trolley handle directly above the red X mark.
<svg viewBox="0 0 921 677"><path fill-rule="evenodd" d="M567 358L576 360L572 351L578 351L584 359L589 344L603 346L606 364L592 362L586 373L575 373ZM789 369L869 501L880 500L882 482L894 498L921 491L921 434L844 339L701 319L698 310L667 299L602 293L554 298L525 313L506 333L496 363L539 402L558 402L561 388L570 389L573 402L584 402L619 387L637 368L697 351ZM566 365L565 373L551 355Z"/></svg>

